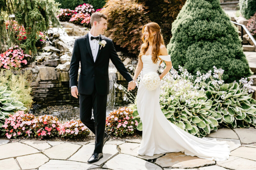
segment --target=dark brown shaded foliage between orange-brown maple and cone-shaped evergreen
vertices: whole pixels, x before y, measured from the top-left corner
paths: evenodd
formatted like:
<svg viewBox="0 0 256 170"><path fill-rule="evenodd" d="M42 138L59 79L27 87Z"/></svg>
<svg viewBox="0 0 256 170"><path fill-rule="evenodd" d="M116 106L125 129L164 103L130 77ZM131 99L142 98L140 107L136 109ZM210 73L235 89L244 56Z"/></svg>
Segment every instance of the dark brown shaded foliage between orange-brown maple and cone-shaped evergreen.
<svg viewBox="0 0 256 170"><path fill-rule="evenodd" d="M167 45L172 37L172 23L176 19L179 11L185 4L186 0L137 0L138 3L144 3L148 12L147 16L152 22L156 22L161 27L161 33Z"/></svg>

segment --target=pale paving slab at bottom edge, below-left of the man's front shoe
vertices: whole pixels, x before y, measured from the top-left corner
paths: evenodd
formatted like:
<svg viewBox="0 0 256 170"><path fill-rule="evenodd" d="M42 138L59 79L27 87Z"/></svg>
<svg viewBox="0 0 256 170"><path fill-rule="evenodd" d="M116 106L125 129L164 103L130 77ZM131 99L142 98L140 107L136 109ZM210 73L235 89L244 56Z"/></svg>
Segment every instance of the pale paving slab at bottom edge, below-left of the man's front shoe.
<svg viewBox="0 0 256 170"><path fill-rule="evenodd" d="M89 163L64 160L50 160L46 164L40 166L38 169L92 169L97 167L99 166Z"/></svg>

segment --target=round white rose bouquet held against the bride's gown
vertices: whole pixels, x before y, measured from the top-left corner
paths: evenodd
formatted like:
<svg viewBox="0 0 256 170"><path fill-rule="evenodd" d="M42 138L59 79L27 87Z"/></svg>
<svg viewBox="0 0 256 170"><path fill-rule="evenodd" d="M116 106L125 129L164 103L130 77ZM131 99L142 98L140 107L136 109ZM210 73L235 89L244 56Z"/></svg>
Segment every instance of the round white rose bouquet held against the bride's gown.
<svg viewBox="0 0 256 170"><path fill-rule="evenodd" d="M148 72L143 76L142 84L145 86L146 89L152 91L161 84L161 80L156 72Z"/></svg>

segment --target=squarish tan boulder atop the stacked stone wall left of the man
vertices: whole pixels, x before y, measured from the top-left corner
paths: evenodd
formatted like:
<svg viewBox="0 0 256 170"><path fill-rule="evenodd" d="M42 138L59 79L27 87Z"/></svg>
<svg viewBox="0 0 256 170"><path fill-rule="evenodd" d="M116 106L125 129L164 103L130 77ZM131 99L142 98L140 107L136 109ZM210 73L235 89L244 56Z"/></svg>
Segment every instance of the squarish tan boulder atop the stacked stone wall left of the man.
<svg viewBox="0 0 256 170"><path fill-rule="evenodd" d="M54 67L40 66L39 74L41 80L56 80L57 74Z"/></svg>

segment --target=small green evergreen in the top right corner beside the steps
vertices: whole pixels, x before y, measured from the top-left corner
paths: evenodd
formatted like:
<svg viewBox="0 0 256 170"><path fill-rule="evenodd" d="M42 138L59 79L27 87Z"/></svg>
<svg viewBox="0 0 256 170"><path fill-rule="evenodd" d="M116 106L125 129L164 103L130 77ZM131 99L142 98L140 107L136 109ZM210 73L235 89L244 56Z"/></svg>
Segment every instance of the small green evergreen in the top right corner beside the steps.
<svg viewBox="0 0 256 170"><path fill-rule="evenodd" d="M240 12L249 19L256 12L256 0L239 0Z"/></svg>

